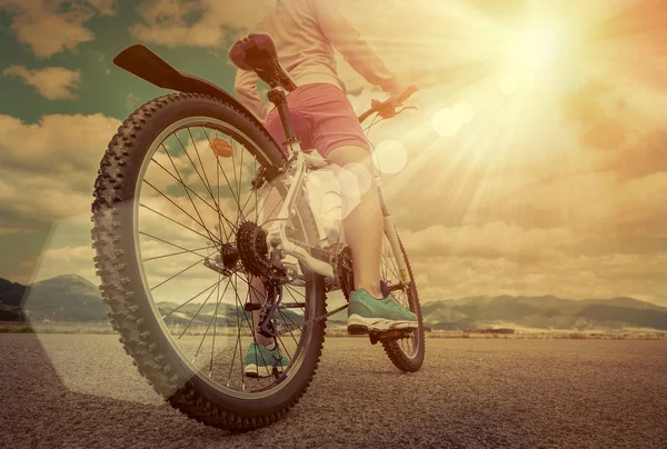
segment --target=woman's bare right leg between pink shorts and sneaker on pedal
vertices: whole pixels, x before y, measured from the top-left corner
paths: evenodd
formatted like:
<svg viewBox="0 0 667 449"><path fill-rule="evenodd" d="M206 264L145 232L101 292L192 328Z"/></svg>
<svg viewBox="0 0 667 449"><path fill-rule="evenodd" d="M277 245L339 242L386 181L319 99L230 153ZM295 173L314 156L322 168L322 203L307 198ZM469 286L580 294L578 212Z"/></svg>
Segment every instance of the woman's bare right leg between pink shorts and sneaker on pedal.
<svg viewBox="0 0 667 449"><path fill-rule="evenodd" d="M382 298L380 255L384 220L372 159L368 150L354 146L338 147L327 154L327 159L344 170L337 178L344 193L344 209L349 211L344 226L355 261L355 289L366 289L375 298ZM357 186L350 188L350 182Z"/></svg>

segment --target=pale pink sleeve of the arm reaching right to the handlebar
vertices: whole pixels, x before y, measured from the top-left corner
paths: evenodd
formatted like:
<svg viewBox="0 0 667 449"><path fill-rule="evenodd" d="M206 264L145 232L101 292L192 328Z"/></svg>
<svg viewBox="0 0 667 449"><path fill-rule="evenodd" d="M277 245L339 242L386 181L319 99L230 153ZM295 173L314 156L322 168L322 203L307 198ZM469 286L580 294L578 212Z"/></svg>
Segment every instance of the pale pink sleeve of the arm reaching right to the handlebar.
<svg viewBox="0 0 667 449"><path fill-rule="evenodd" d="M389 94L399 94L399 83L382 60L361 38L359 31L340 12L337 0L312 0L325 38L340 51L345 60L374 86Z"/></svg>

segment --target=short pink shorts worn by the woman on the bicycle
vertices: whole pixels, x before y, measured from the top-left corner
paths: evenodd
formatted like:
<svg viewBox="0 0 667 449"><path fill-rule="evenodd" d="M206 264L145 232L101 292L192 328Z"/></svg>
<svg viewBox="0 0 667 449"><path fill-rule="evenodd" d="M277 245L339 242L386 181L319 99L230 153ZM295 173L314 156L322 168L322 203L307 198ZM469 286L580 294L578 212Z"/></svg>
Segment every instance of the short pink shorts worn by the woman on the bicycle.
<svg viewBox="0 0 667 449"><path fill-rule="evenodd" d="M306 152L316 149L326 158L331 150L344 146L370 151L350 101L336 86L326 82L301 86L287 97L287 103ZM287 154L285 131L276 109L267 118L267 130Z"/></svg>

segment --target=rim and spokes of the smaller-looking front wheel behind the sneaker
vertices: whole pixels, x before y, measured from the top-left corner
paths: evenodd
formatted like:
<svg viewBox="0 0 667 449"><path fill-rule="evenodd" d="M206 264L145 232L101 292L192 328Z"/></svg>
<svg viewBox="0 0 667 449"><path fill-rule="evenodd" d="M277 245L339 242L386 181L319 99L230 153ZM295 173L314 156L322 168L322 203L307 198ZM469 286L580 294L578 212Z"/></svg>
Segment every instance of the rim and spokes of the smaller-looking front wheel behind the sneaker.
<svg viewBox="0 0 667 449"><path fill-rule="evenodd" d="M396 258L394 257L391 245L389 243L387 236L385 236L380 257L380 277L391 290L391 295L396 298L396 301L419 316L417 310L417 298L415 297L412 285L414 280L410 276L410 286L405 286L399 273L400 271ZM408 337L398 339L396 342L406 357L414 359L419 353L419 329L416 329L411 331Z"/></svg>

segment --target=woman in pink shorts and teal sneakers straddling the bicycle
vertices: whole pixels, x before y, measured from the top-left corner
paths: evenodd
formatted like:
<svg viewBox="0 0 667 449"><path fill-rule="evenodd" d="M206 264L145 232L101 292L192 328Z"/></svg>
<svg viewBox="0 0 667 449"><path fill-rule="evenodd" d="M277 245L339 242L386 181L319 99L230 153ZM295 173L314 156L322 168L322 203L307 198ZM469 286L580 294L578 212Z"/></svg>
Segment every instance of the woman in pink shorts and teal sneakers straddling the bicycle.
<svg viewBox="0 0 667 449"><path fill-rule="evenodd" d="M402 308L391 295L382 296L384 221L370 147L336 71L334 49L340 51L367 81L381 87L392 99L406 89L340 13L337 3L337 0L278 0L256 32L271 36L280 64L298 87L288 96L288 104L302 148L317 149L323 158L344 169L354 167L350 171L359 180L358 186L371 180L370 187L360 191L354 208L346 204L351 211L344 221L345 236L355 261L348 327L354 325L372 330L416 328L415 313ZM236 90L241 103L266 122L276 141L283 142L278 111L269 112L269 106L260 100L257 88L258 77L253 71L237 73ZM282 150L287 152L286 148ZM345 196L344 200L350 201ZM275 353L271 340L260 335L256 339L258 345L250 345L248 349L246 375L270 376L271 362L278 368L289 365L285 355Z"/></svg>

